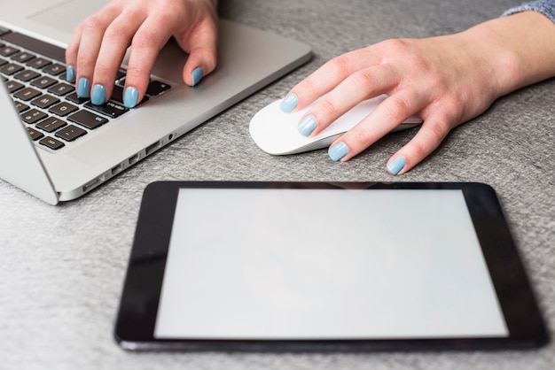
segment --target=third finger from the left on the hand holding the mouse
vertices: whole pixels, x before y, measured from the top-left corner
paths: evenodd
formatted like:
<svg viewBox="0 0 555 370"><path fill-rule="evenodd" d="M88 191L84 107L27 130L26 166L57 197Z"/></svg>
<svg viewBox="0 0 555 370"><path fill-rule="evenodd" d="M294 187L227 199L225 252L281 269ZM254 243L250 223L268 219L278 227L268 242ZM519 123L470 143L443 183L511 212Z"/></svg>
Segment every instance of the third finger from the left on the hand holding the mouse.
<svg viewBox="0 0 555 370"><path fill-rule="evenodd" d="M328 150L330 158L344 162L355 157L419 112L425 104L424 96L414 89L403 89L388 96L373 112L332 143Z"/></svg>

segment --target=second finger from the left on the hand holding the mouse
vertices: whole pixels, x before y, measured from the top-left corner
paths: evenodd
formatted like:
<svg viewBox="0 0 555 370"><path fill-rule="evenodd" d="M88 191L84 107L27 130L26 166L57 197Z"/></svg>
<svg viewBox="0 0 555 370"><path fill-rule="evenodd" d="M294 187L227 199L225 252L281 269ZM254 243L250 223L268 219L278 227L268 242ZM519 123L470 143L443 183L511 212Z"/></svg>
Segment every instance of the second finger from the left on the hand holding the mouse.
<svg viewBox="0 0 555 370"><path fill-rule="evenodd" d="M307 112L299 123L302 135L317 135L336 119L370 97L386 94L395 88L399 78L388 65L364 68L350 74Z"/></svg>

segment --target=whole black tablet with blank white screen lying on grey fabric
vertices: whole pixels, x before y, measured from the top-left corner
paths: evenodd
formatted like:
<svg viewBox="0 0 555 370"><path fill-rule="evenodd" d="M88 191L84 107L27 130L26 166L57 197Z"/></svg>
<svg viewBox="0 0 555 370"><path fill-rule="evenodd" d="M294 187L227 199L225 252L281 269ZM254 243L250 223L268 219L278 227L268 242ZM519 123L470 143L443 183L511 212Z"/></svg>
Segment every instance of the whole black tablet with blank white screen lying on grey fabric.
<svg viewBox="0 0 555 370"><path fill-rule="evenodd" d="M481 183L145 189L114 335L127 350L491 350L548 341Z"/></svg>

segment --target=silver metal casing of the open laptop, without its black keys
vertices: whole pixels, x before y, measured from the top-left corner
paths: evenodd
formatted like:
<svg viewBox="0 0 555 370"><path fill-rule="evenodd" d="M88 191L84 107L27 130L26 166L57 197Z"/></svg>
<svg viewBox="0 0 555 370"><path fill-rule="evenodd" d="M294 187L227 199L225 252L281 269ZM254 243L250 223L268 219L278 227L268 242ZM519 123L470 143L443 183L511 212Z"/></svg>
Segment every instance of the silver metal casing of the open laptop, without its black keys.
<svg viewBox="0 0 555 370"><path fill-rule="evenodd" d="M0 27L65 48L74 26L106 3L2 1ZM31 142L3 87L0 121L12 136L0 146L0 177L50 204L81 197L311 57L302 42L224 19L218 42L215 72L195 88L182 81L186 54L168 42L152 71L153 78L171 86L168 92L56 151Z"/></svg>

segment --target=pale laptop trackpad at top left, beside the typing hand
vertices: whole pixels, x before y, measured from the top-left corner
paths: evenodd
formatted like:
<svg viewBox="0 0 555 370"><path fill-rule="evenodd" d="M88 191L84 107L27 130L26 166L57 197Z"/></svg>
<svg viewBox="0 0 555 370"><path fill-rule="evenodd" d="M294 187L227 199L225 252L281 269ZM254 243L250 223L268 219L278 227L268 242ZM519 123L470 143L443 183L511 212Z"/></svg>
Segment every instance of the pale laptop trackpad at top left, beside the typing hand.
<svg viewBox="0 0 555 370"><path fill-rule="evenodd" d="M98 12L108 3L109 0L66 0L47 6L43 11L35 12L28 19L71 35L82 19ZM48 2L44 4L48 4Z"/></svg>

